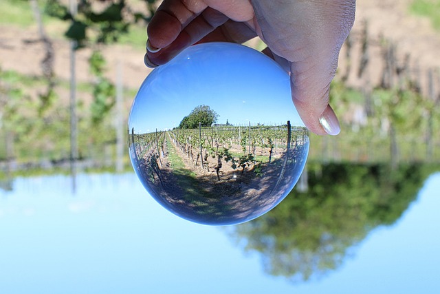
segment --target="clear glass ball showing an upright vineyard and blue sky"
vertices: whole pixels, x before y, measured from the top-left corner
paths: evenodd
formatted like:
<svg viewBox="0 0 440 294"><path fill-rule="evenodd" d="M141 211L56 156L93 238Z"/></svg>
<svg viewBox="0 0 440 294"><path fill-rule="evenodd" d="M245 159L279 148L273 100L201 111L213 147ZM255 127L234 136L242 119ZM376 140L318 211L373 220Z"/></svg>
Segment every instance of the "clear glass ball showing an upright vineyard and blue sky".
<svg viewBox="0 0 440 294"><path fill-rule="evenodd" d="M244 45L192 45L148 74L131 107L137 177L162 207L192 222L239 224L270 211L308 153L289 74Z"/></svg>

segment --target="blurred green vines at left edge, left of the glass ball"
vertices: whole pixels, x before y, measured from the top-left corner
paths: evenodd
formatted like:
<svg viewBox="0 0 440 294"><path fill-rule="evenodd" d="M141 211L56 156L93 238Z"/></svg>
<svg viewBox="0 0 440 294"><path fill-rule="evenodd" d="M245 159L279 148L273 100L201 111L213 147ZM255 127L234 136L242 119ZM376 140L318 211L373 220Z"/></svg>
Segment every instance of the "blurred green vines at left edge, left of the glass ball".
<svg viewBox="0 0 440 294"><path fill-rule="evenodd" d="M69 158L69 112L67 101L56 99L41 111L41 101L32 96L43 87L43 78L23 76L0 70L0 160L5 152L6 138L12 138L12 156L21 162L57 162ZM56 90L67 83L57 83ZM89 96L92 87L80 84L78 96ZM109 162L113 155L115 130L113 120L104 117L93 123L83 101L78 103L78 148L80 158ZM10 156L10 154L9 154ZM128 162L129 158L125 158Z"/></svg>

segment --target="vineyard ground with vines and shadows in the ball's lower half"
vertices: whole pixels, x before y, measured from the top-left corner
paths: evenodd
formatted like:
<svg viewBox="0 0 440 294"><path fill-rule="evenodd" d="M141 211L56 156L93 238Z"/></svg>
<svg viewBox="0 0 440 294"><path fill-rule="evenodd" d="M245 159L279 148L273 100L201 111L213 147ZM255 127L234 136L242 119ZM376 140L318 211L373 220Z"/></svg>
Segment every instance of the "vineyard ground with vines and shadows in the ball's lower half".
<svg viewBox="0 0 440 294"><path fill-rule="evenodd" d="M289 122L148 134L131 129L129 137L146 189L172 210L188 209L188 218L195 210L207 218L250 218L256 207L274 205L298 180L309 150L307 129Z"/></svg>

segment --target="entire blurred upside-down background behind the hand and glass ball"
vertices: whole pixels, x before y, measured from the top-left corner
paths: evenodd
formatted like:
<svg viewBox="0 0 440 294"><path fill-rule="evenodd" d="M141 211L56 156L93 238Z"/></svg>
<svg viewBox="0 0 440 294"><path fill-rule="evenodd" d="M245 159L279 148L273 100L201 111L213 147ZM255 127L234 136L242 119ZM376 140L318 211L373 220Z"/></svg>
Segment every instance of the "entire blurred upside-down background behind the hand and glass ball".
<svg viewBox="0 0 440 294"><path fill-rule="evenodd" d="M1 0L0 292L439 293L440 1L357 1L341 134L312 134L294 191L226 228L167 213L129 162L159 3Z"/></svg>

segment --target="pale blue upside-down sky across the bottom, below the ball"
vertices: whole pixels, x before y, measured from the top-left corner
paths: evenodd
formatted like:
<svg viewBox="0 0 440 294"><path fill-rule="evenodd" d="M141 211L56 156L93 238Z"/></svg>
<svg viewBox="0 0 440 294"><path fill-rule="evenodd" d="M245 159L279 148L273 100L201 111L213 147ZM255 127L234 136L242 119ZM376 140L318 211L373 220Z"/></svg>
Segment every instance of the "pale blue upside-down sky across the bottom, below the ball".
<svg viewBox="0 0 440 294"><path fill-rule="evenodd" d="M440 174L322 280L266 275L219 227L182 220L135 174L17 178L0 191L0 293L439 293ZM67 192L66 192L67 191ZM280 205L283 205L281 202ZM25 282L23 282L25 281Z"/></svg>

